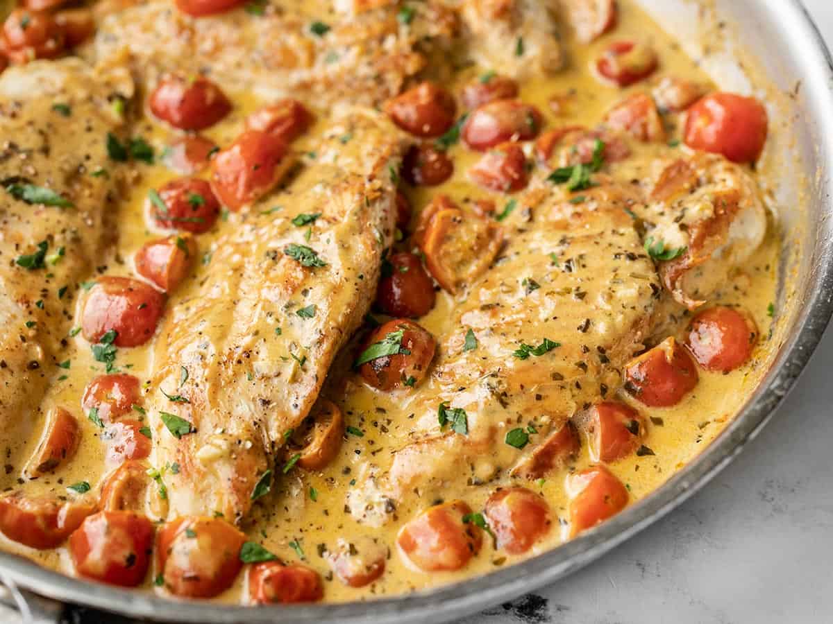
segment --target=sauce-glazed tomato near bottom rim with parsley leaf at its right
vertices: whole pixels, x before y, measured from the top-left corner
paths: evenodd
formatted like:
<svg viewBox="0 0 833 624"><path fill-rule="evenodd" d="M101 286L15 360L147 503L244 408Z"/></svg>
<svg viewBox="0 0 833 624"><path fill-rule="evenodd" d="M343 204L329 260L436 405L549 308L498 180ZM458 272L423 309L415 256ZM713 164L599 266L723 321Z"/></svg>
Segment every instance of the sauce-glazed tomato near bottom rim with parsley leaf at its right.
<svg viewBox="0 0 833 624"><path fill-rule="evenodd" d="M422 572L459 570L480 552L483 543L480 527L463 522L470 515L471 508L462 501L427 508L402 526L397 544Z"/></svg>

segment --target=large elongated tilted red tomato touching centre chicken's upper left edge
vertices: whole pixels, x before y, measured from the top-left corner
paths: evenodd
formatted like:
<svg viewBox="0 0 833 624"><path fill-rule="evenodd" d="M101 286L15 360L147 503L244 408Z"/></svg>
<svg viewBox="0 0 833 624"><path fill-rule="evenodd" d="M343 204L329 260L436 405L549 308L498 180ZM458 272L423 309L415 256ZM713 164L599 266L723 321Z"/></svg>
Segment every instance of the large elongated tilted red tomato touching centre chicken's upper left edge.
<svg viewBox="0 0 833 624"><path fill-rule="evenodd" d="M212 163L212 186L223 205L240 210L271 191L281 179L279 165L286 154L287 144L267 132L238 136Z"/></svg>

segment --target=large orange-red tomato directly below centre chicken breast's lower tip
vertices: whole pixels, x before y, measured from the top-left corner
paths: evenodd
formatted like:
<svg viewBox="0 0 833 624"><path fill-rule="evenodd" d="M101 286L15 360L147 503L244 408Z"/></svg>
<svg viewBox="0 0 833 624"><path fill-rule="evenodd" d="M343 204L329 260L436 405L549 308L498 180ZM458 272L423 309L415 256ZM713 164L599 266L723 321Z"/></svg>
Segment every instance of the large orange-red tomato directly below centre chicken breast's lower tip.
<svg viewBox="0 0 833 624"><path fill-rule="evenodd" d="M240 572L246 536L225 520L183 516L157 536L157 570L176 596L210 598L231 587Z"/></svg>

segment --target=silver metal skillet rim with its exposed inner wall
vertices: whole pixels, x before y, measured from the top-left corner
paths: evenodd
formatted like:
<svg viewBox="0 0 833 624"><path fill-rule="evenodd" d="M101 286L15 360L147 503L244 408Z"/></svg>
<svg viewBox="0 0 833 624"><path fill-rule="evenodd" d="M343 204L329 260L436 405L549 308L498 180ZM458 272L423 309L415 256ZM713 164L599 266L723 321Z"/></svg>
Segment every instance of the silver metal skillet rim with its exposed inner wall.
<svg viewBox="0 0 833 624"><path fill-rule="evenodd" d="M664 6L686 4L666 0ZM833 62L821 37L797 0L721 0L721 18L737 25L745 47L761 61L769 79L796 92L791 116L781 132L796 138L794 150L806 171L784 176L783 206L807 202L806 213L787 211L785 240L800 245L795 265L782 267L779 310L787 310L788 339L772 361L741 413L694 462L656 492L595 530L529 561L467 582L405 597L368 603L292 607L226 607L214 603L173 602L145 593L82 582L37 567L21 557L0 552L0 578L43 597L75 602L163 622L443 622L477 612L498 602L574 572L601 557L657 518L675 508L724 468L771 417L804 369L831 318L833 303ZM801 88L796 90L796 82ZM803 186L793 188L792 186ZM803 195L802 195L803 194ZM792 202L792 203L789 203ZM795 250L795 248L793 248ZM791 300L790 300L791 299ZM21 594L25 597L25 592ZM40 620L36 622L49 622Z"/></svg>

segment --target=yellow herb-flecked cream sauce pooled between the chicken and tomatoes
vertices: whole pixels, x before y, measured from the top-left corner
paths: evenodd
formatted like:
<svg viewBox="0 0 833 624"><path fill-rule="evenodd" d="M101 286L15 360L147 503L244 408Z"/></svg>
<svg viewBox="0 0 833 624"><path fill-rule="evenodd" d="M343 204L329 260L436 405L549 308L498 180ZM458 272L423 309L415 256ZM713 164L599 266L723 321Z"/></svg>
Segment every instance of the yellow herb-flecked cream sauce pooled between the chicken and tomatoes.
<svg viewBox="0 0 833 624"><path fill-rule="evenodd" d="M651 42L656 48L661 66L651 84L656 84L663 76L679 76L708 84L709 79L698 69L695 62L681 52L680 46L663 32L644 12L641 12L632 2L620 0L620 23L615 34L601 37L600 40L589 45L578 45L569 39L566 41L568 52L568 66L561 72L546 80L533 80L521 84L521 100L536 105L546 118L547 127L562 125L595 126L601 120L604 112L614 103L621 100L627 92L642 90L645 84L637 84L631 89L623 90L601 83L594 77L591 63L601 50L614 39L633 39ZM447 85L452 92L459 92L461 85L475 79L489 71L489 67L462 67L454 77L453 84ZM230 94L235 108L230 116L222 123L214 126L205 134L216 141L218 145L227 145L242 128L242 121L248 112L256 109L265 102L257 102L247 94ZM561 102L561 109L554 111L551 100L557 98ZM314 106L314 102L308 102ZM300 158L308 158L307 152L313 151L317 136L327 125L326 111L318 111L317 123L295 147ZM673 122L673 117L670 120ZM174 138L164 131L161 126L147 121L141 124L137 131L157 148L157 155ZM671 139L678 139L679 129L670 132ZM656 148L643 146L631 156L634 161L651 158L651 151ZM681 148L684 149L684 148ZM466 150L464 146L452 146L449 156L455 164L455 174L450 181L436 188L418 188L408 190L407 194L415 209L416 220L432 196L445 193L456 201L471 201L480 197L490 197L487 191L482 191L467 180L466 171L479 157L478 154ZM162 159L157 159L162 161ZM622 165L626 167L627 164ZM147 229L145 216L147 190L158 188L163 183L176 177L161 162L157 166L137 166L135 179L130 185L131 190L122 201L119 208L119 242L117 249L100 262L100 272L108 275L131 275L132 255L147 240L157 238L159 233ZM500 210L505 203L505 196L491 196ZM230 228L234 228L240 220L240 215L223 213L217 227L212 232L198 237L199 255L210 254L212 245L218 236ZM771 220L772 221L772 220ZM767 334L771 331L772 319L768 312L769 305L775 299L776 268L779 255L777 226L769 224L766 240L761 248L745 266L737 271L737 275L730 280L714 299L715 303L741 305L749 310L761 330L761 341L749 363L730 374L715 374L700 371L701 379L696 389L681 404L669 409L649 409L635 404L641 414L648 421L648 433L644 440L650 447L653 456L636 457L631 455L611 465L611 470L626 484L631 494L631 504L645 497L656 489L667 478L671 477L679 468L696 457L713 438L716 437L733 414L746 401L763 373L765 367L759 365L768 359L769 344ZM172 298L186 298L197 290L197 284L203 271L202 264L197 262L192 276L180 285ZM95 279L91 275L90 280ZM420 323L433 334L447 334L449 331L450 310L454 300L444 291L437 296L436 307L420 319ZM76 324L80 319L80 310L76 310ZM685 320L683 321L685 323ZM679 328L684 329L684 324ZM119 349L117 367L124 372L137 375L144 381L152 368L152 344L135 349ZM70 360L69 369L56 369L52 390L44 401L40 414L46 414L52 405L66 405L73 412L80 412L81 396L84 387L97 374L101 374L102 364L95 362L90 354L89 345L81 335L68 339L66 354L62 358ZM484 546L477 557L461 572L432 572L425 573L411 569L403 562L403 558L396 551L396 535L402 522L407 522L415 513L430 504L429 501L414 500L411 503L403 501L397 506L395 522L387 526L373 528L362 526L356 522L350 513L345 511L345 496L352 488L352 481L356 478L357 466L367 456L367 453L377 453L377 462L385 465L385 457L390 448L386 439L386 430L407 428L411 414L402 409L404 399L400 394L385 394L377 392L362 384L361 379L353 373L347 374L345 393L341 396L329 396L342 407L346 423L359 428L364 433L362 438L347 435L341 453L336 460L320 473L307 473L294 469L273 485L277 489L274 498L267 503L260 503L252 513L252 522L244 530L252 540L262 543L270 551L286 562L295 562L299 558L303 562L321 572L325 578L325 600L352 601L377 596L397 595L403 592L438 587L451 582L460 581L466 577L490 572L496 567L508 566L526 557L534 557L536 553L546 551L566 539L565 532L555 527L546 540L539 542L525 555L519 557L507 556L505 552L496 551L491 540L486 537ZM619 399L629 400L620 395ZM140 414L136 414L140 417ZM4 488L22 486L25 491L32 493L50 492L63 493L68 484L87 481L92 484L91 495L96 494L97 483L108 470L114 468L105 465L104 444L99 439L100 430L87 421L81 419L82 441L77 455L72 462L65 463L51 475L33 481L18 480L18 475L37 447L42 422L32 423L32 436L22 441L19 446L7 449L5 463L7 473L2 475ZM576 460L575 468L583 468L590 459L587 456L586 444L582 444L580 457ZM564 488L563 473L554 473L545 480L529 483L528 487L541 492L551 506L554 517L566 518L567 500ZM494 485L470 486L465 478L457 482L451 480L445 493L445 499L463 498L475 511L483 508L486 498ZM311 492L316 493L316 500L311 498ZM382 577L368 587L346 587L332 577L327 562L319 555L319 544L334 546L337 537L348 540L355 536L376 537L381 543L387 544L390 556L387 569ZM293 548L290 544L297 545ZM13 552L30 557L44 566L56 568L72 574L72 563L67 555L66 547L53 551L35 551L19 544L10 542L2 537L2 547ZM152 579L156 576L152 570L145 583L146 591L164 593L161 588L153 587ZM235 585L222 594L218 600L223 602L239 602L245 600L246 575L241 574Z"/></svg>

